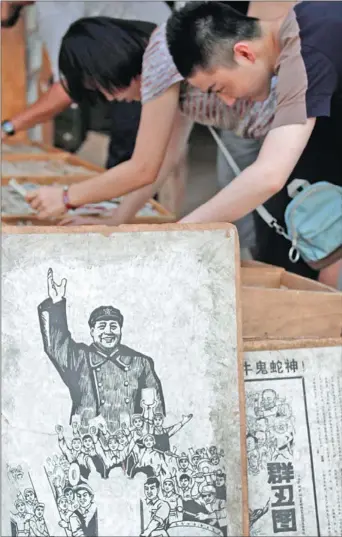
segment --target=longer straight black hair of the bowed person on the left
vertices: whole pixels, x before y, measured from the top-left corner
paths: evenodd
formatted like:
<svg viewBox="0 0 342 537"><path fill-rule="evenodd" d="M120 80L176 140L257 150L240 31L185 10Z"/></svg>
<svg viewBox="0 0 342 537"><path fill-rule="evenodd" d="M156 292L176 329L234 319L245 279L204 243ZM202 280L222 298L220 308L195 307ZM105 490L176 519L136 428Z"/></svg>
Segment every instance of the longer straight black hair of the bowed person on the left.
<svg viewBox="0 0 342 537"><path fill-rule="evenodd" d="M143 55L156 26L109 17L79 19L69 27L59 53L61 83L73 101L94 104L127 88L141 74Z"/></svg>

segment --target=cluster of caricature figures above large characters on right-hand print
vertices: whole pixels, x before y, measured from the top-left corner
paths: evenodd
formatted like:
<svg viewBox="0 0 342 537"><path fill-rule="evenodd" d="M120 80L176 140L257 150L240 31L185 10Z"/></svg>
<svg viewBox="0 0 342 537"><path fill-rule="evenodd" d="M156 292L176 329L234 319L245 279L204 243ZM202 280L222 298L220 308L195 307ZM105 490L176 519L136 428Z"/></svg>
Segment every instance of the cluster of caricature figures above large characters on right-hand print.
<svg viewBox="0 0 342 537"><path fill-rule="evenodd" d="M270 461L292 458L295 428L291 405L273 389L248 393L246 407L248 474L253 476Z"/></svg>

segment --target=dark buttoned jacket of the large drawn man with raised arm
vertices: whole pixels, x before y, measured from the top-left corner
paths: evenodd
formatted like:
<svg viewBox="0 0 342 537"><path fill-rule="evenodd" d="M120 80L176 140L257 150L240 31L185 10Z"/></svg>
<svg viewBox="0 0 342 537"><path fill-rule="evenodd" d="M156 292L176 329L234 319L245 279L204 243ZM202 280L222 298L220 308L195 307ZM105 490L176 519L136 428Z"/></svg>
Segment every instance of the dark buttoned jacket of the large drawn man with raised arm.
<svg viewBox="0 0 342 537"><path fill-rule="evenodd" d="M56 304L45 300L38 314L44 350L70 391L71 416L79 414L87 422L101 414L114 431L120 426L120 416L142 412L143 388L155 389L165 415L162 387L151 358L121 344L106 354L95 344L76 343L68 330L65 299Z"/></svg>

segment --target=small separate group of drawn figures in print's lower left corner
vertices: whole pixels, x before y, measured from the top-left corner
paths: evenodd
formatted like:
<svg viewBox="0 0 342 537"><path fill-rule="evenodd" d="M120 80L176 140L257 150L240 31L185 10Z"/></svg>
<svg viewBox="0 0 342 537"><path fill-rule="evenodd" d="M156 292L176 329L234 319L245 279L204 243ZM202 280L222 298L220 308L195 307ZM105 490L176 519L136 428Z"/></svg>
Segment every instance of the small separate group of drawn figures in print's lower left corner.
<svg viewBox="0 0 342 537"><path fill-rule="evenodd" d="M49 537L45 505L38 500L30 474L25 474L21 466L7 465L7 475L16 493L10 515L11 537Z"/></svg>

